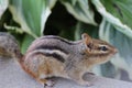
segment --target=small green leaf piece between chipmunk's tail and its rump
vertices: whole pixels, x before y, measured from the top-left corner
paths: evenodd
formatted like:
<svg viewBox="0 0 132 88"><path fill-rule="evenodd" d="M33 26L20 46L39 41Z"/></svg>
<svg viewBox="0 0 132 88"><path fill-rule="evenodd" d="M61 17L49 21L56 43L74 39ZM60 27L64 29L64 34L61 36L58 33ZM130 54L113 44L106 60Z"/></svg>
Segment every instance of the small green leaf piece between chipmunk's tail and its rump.
<svg viewBox="0 0 132 88"><path fill-rule="evenodd" d="M25 34L25 36L23 37L23 41L21 42L21 52L22 52L22 54L25 54L28 47L31 45L31 43L34 40L35 38L33 36Z"/></svg>

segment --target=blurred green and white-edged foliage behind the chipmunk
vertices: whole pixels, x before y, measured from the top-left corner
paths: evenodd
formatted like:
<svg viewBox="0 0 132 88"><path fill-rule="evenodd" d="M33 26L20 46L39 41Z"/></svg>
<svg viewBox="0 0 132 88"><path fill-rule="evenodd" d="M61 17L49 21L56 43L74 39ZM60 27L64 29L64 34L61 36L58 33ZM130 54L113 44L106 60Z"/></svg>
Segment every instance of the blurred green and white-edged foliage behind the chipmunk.
<svg viewBox="0 0 132 88"><path fill-rule="evenodd" d="M132 0L0 0L0 31L10 32L25 53L33 40L59 35L79 40L86 32L114 45L119 53L94 72L132 79Z"/></svg>

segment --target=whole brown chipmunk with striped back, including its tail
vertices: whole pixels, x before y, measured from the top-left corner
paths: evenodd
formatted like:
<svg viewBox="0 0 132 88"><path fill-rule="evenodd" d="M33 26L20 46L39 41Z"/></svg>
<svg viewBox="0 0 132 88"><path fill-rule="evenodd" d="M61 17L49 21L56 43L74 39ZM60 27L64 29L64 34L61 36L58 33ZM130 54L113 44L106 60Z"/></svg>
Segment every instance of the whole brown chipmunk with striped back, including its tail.
<svg viewBox="0 0 132 88"><path fill-rule="evenodd" d="M38 37L22 55L14 37L0 33L0 54L18 58L29 75L45 85L55 76L89 86L89 81L82 78L84 74L92 66L108 62L116 53L112 45L84 33L81 40L75 42L55 35Z"/></svg>

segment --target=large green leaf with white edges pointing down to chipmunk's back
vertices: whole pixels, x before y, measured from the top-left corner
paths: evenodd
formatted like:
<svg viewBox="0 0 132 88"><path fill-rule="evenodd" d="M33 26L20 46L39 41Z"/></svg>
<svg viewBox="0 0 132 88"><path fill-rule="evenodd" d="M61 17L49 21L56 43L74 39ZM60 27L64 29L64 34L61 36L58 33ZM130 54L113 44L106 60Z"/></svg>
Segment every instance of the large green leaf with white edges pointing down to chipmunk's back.
<svg viewBox="0 0 132 88"><path fill-rule="evenodd" d="M10 0L10 11L21 29L33 37L43 35L47 16L51 13L47 0Z"/></svg>

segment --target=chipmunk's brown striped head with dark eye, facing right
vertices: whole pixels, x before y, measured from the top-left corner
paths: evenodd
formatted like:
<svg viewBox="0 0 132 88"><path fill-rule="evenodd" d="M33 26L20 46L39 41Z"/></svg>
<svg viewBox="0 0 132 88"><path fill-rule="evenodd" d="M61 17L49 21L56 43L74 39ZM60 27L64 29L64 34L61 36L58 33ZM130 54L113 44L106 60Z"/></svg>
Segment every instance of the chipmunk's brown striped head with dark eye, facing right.
<svg viewBox="0 0 132 88"><path fill-rule="evenodd" d="M106 63L118 51L112 45L101 40L91 38L88 34L81 35L86 45L86 55L88 61L92 64Z"/></svg>

